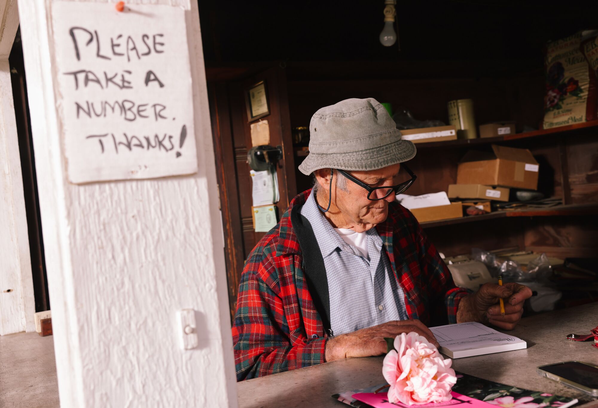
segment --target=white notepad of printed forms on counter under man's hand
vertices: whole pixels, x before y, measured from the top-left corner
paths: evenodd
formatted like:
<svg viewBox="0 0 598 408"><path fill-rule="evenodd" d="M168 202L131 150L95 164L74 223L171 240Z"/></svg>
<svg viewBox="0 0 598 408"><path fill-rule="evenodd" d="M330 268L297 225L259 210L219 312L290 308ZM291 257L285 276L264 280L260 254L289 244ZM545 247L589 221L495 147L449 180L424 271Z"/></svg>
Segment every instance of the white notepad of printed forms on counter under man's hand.
<svg viewBox="0 0 598 408"><path fill-rule="evenodd" d="M501 333L478 322L430 327L440 343L439 351L450 358L471 357L527 348L525 340Z"/></svg>

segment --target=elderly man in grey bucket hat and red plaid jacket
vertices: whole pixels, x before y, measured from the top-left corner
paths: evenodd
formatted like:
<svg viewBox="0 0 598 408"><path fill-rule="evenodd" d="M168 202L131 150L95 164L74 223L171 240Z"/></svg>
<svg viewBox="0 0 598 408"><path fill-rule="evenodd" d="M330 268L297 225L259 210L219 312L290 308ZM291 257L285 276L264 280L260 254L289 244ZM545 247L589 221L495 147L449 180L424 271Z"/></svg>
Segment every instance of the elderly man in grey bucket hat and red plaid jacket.
<svg viewBox="0 0 598 408"><path fill-rule="evenodd" d="M241 276L237 380L380 355L384 337L410 331L438 345L426 324L515 326L529 288L456 287L417 220L396 202L416 179L399 164L416 148L380 103L347 99L319 109L310 136L299 169L313 174L314 187L291 201Z"/></svg>

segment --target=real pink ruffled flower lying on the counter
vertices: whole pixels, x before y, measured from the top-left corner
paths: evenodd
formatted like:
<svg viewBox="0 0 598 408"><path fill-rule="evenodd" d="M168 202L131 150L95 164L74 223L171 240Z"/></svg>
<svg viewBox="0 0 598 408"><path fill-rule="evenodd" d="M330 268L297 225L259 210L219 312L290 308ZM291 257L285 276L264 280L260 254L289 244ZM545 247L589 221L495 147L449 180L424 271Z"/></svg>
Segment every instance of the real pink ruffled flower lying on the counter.
<svg viewBox="0 0 598 408"><path fill-rule="evenodd" d="M444 360L425 337L413 331L401 333L395 337L395 349L386 355L382 366L390 384L390 403L441 403L453 398L450 391L457 377L450 368L452 361Z"/></svg>

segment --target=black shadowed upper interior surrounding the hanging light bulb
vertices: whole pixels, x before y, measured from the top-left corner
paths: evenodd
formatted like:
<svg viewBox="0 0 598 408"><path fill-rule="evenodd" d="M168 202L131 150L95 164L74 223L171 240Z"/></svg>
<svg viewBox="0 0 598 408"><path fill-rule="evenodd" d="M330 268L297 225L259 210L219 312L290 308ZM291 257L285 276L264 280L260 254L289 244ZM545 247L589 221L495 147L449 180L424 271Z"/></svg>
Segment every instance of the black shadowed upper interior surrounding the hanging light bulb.
<svg viewBox="0 0 598 408"><path fill-rule="evenodd" d="M399 1L399 51L378 39L383 8L383 0L202 0L206 63L376 61L372 77L396 78L402 72L382 62L426 61L431 69L412 74L442 76L459 72L450 61L460 60L472 63L462 72L468 77L512 74L541 68L546 41L596 27L597 10L590 2ZM310 74L289 70L289 80Z"/></svg>

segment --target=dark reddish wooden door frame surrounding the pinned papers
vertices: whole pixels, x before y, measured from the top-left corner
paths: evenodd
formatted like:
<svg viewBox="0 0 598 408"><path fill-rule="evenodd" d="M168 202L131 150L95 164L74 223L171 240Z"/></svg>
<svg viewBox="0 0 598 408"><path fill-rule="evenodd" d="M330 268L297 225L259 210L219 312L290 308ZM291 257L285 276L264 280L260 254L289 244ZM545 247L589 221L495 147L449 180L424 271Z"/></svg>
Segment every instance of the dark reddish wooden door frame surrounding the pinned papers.
<svg viewBox="0 0 598 408"><path fill-rule="evenodd" d="M209 81L208 96L210 103L210 116L212 118L212 135L216 162L216 173L220 192L220 208L222 212L222 226L224 230L225 260L227 267L228 300L231 319L236 310L237 294L239 291L240 276L245 265L244 252L252 248L244 248L243 224L241 217L241 203L239 202L239 188L237 186L237 162L245 157L247 150L234 149L233 132L243 132L250 135L249 121L246 109L240 109L237 95L242 92L247 83L258 82L266 79L269 83L268 93L270 98L271 114L264 119L276 115L280 123L282 137L283 159L279 168L284 171L277 172L280 187L280 201L277 203L279 214L288 208L289 202L297 194L295 182L295 162L291 138L291 118L289 115L288 98L286 95L286 75L282 68L274 67L260 74L235 78L228 81ZM231 93L236 97L231 101ZM232 103L232 105L231 105ZM233 112L234 106L238 109ZM238 112L237 112L238 111ZM277 112L277 113L276 113ZM288 142L284 142L288 141ZM249 171L239 169L240 171ZM283 194L286 191L286 194Z"/></svg>

